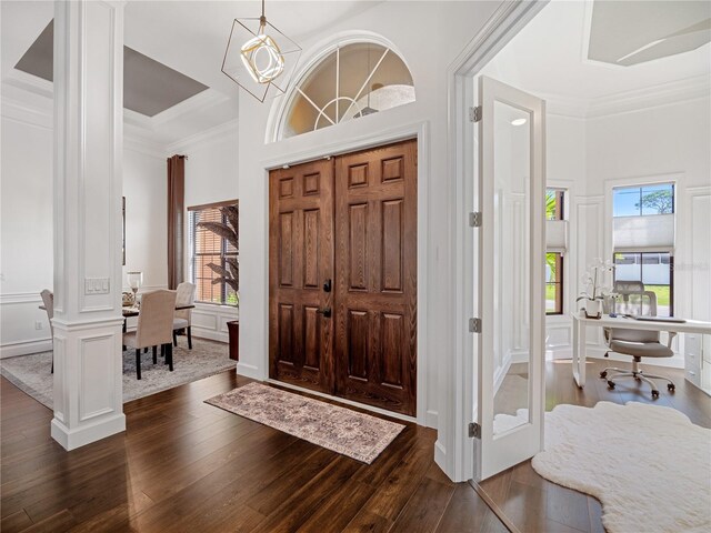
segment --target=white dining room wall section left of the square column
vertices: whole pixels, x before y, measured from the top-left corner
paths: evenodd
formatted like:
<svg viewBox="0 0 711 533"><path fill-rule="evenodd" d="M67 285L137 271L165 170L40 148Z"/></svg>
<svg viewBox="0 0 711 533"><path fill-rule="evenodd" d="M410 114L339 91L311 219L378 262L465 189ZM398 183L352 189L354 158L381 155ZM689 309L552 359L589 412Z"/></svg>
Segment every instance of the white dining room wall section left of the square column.
<svg viewBox="0 0 711 533"><path fill-rule="evenodd" d="M0 356L51 348L40 291L52 288L52 130L49 117L2 105ZM40 329L37 329L39 325Z"/></svg>

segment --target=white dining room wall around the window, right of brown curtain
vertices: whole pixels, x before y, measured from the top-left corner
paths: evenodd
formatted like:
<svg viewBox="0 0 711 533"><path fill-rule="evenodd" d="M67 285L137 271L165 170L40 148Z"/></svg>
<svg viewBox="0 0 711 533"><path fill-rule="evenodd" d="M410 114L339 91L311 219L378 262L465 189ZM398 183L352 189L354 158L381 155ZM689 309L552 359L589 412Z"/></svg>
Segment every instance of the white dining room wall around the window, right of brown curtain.
<svg viewBox="0 0 711 533"><path fill-rule="evenodd" d="M239 199L237 121L228 122L172 144L168 147L168 152L188 155L186 161L186 208ZM188 213L186 213L187 263L184 272L187 279L190 272L188 222ZM246 224L246 228L249 225ZM240 231L240 238L243 232ZM239 310L234 306L197 303L192 311L192 334L227 342L229 339L227 322L237 319L239 319Z"/></svg>

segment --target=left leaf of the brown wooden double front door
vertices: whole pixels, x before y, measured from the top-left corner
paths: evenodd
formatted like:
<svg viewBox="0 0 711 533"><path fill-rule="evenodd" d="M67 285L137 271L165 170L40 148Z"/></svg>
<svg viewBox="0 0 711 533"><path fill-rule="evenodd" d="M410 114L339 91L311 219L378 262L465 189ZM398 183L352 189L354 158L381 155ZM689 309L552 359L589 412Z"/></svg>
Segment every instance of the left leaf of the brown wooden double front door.
<svg viewBox="0 0 711 533"><path fill-rule="evenodd" d="M270 376L332 393L333 163L270 172Z"/></svg>

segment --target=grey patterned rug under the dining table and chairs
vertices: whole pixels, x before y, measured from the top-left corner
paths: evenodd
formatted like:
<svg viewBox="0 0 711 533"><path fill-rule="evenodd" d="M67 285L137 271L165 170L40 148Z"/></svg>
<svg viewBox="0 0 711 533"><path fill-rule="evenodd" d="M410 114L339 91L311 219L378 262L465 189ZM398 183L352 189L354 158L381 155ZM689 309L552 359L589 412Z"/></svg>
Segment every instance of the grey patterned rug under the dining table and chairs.
<svg viewBox="0 0 711 533"><path fill-rule="evenodd" d="M178 348L173 348L173 372L163 364L160 353L156 365L150 350L142 354L140 381L136 379L136 352L123 352L123 403L234 369L227 344L193 339L192 350L188 350L184 343L184 338L178 338ZM0 361L4 378L49 409L52 409L53 389L51 366L52 352Z"/></svg>

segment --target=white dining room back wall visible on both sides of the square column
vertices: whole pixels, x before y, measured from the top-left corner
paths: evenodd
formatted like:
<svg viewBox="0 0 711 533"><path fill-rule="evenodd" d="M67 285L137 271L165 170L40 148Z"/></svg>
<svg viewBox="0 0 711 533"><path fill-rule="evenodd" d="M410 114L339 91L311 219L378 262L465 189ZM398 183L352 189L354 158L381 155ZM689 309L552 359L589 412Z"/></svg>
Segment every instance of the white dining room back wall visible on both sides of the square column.
<svg viewBox="0 0 711 533"><path fill-rule="evenodd" d="M52 289L52 118L2 101L0 356L51 350L40 291ZM127 141L123 151L127 270L146 289L167 284L166 159ZM124 282L126 283L126 282ZM128 286L124 285L124 290ZM39 324L41 329L36 329Z"/></svg>

